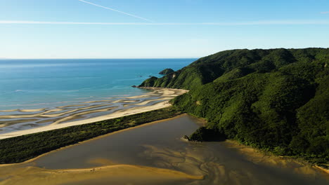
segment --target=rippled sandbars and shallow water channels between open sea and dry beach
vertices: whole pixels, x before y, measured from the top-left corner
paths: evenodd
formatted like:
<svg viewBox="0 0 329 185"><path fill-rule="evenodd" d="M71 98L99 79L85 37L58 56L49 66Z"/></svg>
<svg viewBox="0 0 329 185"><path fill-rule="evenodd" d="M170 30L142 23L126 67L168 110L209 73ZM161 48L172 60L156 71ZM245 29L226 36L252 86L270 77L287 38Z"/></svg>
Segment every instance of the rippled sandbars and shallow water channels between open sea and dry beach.
<svg viewBox="0 0 329 185"><path fill-rule="evenodd" d="M150 93L135 97L112 98L111 100L81 102L61 107L41 109L14 109L0 111L0 135L21 130L29 130L47 125L82 121L89 118L100 118L111 114L125 116L138 113L141 107L167 107L167 103L177 95L186 93L184 90L154 89ZM121 114L120 114L121 113ZM105 118L101 118L104 120ZM100 121L101 121L100 120ZM93 119L97 121L97 119Z"/></svg>

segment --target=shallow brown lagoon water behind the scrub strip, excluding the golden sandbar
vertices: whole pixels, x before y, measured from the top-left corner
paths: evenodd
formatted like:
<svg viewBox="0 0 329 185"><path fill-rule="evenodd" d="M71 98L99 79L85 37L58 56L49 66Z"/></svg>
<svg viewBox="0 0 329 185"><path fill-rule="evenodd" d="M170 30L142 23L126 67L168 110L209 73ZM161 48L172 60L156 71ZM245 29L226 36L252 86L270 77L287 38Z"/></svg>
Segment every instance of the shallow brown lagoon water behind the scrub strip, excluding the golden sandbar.
<svg viewBox="0 0 329 185"><path fill-rule="evenodd" d="M202 122L192 116L180 116L169 121L146 125L68 147L34 160L34 165L46 169L71 169L126 164L184 172L203 179L162 179L127 171L118 173L110 182L116 184L328 184L325 174L298 163L255 162L227 142L184 142ZM254 159L259 157L254 157ZM269 158L270 161L271 158ZM273 160L273 159L271 159ZM257 160L260 161L260 160ZM140 178L133 177L134 173ZM130 176L129 176L130 175ZM143 177L142 177L143 176ZM127 178L127 179L126 179ZM147 179L147 180L146 180ZM108 184L95 178L71 184ZM1 184L1 183L0 183ZM70 184L70 183L66 183Z"/></svg>

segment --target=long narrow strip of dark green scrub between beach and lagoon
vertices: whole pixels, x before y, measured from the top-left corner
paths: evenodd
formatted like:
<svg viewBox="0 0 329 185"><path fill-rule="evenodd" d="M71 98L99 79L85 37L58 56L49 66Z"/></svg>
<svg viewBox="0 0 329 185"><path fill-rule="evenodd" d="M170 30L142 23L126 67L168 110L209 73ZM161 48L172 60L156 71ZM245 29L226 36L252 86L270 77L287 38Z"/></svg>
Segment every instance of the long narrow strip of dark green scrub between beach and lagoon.
<svg viewBox="0 0 329 185"><path fill-rule="evenodd" d="M20 163L99 135L181 114L174 107L0 140L0 163Z"/></svg>

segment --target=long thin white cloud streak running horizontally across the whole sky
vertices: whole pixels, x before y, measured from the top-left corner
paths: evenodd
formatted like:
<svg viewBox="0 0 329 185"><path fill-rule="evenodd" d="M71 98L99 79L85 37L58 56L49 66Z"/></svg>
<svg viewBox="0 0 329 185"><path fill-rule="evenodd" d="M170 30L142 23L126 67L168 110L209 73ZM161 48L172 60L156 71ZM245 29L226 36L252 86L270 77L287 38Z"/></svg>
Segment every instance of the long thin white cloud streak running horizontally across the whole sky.
<svg viewBox="0 0 329 185"><path fill-rule="evenodd" d="M139 26L252 26L252 25L329 25L329 20L263 20L253 22L47 22L26 20L0 20L0 25L139 25Z"/></svg>

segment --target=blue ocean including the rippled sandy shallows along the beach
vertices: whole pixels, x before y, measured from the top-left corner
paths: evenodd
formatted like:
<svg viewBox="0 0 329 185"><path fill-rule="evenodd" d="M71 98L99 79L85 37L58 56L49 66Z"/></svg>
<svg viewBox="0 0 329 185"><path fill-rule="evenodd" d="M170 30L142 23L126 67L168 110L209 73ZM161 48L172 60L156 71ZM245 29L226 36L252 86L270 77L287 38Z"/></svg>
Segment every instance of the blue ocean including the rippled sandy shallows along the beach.
<svg viewBox="0 0 329 185"><path fill-rule="evenodd" d="M0 135L157 106L171 95L131 86L194 60L0 60Z"/></svg>

